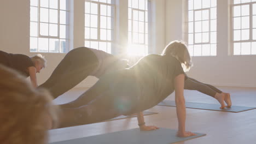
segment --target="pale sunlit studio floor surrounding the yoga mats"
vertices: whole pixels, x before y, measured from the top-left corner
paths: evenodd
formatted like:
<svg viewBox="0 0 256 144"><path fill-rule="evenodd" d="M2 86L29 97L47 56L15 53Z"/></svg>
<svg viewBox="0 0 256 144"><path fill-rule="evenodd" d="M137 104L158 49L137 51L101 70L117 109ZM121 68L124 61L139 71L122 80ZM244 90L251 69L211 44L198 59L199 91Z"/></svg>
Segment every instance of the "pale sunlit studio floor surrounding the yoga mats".
<svg viewBox="0 0 256 144"><path fill-rule="evenodd" d="M256 88L218 87L224 92L231 93L232 105L256 107ZM86 89L72 89L54 100L55 104L63 104L79 96ZM184 92L185 100L196 103L218 104L216 99L196 92ZM166 100L174 100L171 94ZM161 128L177 129L176 107L154 106L147 111L158 114L145 116L147 125ZM112 133L138 128L137 118L125 118L115 121L80 125L62 129L50 130L50 142L77 139L80 137ZM206 134L206 136L178 142L179 144L238 144L255 143L256 141L256 109L244 112L221 112L199 109L187 109L188 131ZM117 144L117 143L116 143ZM158 144L161 144L159 142Z"/></svg>

